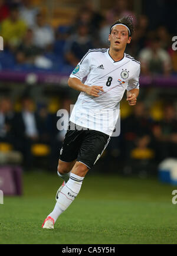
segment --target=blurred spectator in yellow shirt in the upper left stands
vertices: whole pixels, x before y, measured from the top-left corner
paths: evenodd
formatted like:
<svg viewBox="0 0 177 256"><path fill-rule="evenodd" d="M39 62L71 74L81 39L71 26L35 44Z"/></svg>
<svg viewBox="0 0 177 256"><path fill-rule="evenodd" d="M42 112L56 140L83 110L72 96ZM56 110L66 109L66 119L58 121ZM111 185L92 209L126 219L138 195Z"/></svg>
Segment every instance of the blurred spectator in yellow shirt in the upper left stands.
<svg viewBox="0 0 177 256"><path fill-rule="evenodd" d="M12 50L19 46L27 30L27 25L19 18L18 7L11 7L10 16L2 22L1 35L4 38L4 43Z"/></svg>

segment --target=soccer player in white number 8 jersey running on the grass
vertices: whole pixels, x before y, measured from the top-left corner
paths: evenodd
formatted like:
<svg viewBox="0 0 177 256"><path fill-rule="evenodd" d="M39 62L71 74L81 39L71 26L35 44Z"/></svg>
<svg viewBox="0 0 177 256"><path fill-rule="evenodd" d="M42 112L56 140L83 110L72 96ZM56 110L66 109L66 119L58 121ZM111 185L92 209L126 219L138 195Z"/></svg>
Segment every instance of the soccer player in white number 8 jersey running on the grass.
<svg viewBox="0 0 177 256"><path fill-rule="evenodd" d="M100 158L114 132L125 90L129 105L136 104L140 63L124 53L132 33L131 17L116 21L110 27L110 48L89 50L68 79L68 85L80 91L80 95L60 150L57 173L64 182L42 228L53 229L58 216L80 192L86 173Z"/></svg>

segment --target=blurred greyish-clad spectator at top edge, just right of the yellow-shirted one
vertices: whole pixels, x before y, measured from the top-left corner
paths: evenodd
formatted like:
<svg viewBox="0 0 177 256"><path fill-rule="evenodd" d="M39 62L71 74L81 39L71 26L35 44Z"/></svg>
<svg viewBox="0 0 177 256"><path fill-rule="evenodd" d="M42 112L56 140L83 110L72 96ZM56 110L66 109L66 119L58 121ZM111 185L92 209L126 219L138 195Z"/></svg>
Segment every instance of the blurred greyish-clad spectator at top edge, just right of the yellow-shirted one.
<svg viewBox="0 0 177 256"><path fill-rule="evenodd" d="M35 25L35 17L38 14L38 9L32 7L31 0L22 0L22 6L19 9L19 14L28 27L32 27Z"/></svg>

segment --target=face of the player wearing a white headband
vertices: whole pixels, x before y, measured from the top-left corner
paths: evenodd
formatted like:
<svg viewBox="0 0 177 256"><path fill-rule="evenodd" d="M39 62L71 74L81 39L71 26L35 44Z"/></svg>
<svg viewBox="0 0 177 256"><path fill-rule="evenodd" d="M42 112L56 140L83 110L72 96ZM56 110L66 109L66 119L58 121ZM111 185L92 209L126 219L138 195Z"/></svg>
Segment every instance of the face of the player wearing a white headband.
<svg viewBox="0 0 177 256"><path fill-rule="evenodd" d="M116 25L113 27L111 34L109 34L110 47L113 50L124 50L126 44L129 44L131 37L129 31L123 25Z"/></svg>

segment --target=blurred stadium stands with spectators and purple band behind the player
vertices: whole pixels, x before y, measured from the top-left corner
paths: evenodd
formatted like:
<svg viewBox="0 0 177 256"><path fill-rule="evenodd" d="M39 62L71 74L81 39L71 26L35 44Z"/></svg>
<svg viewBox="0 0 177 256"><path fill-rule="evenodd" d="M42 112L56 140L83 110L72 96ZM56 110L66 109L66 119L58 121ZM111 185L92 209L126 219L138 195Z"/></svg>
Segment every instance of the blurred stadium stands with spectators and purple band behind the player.
<svg viewBox="0 0 177 256"><path fill-rule="evenodd" d="M133 108L123 98L121 134L90 173L158 180L159 164L177 160L176 1L0 0L0 189L7 170L18 183L5 195L22 193L21 172L25 184L35 171L56 175L57 111L78 96L68 76L89 48L109 47L110 25L124 15L135 22L126 53L141 62L140 95Z"/></svg>

